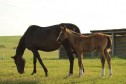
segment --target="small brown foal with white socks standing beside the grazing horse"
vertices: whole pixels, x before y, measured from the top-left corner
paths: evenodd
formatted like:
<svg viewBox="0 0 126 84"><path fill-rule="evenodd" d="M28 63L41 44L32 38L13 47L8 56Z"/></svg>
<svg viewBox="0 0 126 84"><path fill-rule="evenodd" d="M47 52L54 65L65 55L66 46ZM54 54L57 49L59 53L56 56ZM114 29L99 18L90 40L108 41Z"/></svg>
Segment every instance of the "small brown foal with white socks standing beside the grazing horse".
<svg viewBox="0 0 126 84"><path fill-rule="evenodd" d="M109 53L111 51L110 48L112 45L112 41L109 36L101 33L85 36L71 31L67 29L67 27L63 26L61 27L61 32L57 38L57 42L61 43L65 39L68 39L74 51L78 55L79 76L82 76L82 74L84 73L84 67L82 62L84 52L92 52L94 50L97 50L100 54L102 63L102 77L104 76L105 58L108 62L109 76L111 77L112 69L111 57Z"/></svg>

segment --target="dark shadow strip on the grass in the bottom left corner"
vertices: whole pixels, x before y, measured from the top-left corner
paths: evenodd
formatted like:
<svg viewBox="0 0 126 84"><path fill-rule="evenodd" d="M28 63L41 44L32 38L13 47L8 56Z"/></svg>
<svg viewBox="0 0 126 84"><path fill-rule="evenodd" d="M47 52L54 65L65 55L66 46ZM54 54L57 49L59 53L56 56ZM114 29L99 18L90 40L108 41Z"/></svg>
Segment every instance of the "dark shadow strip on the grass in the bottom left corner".
<svg viewBox="0 0 126 84"><path fill-rule="evenodd" d="M38 84L36 80L0 80L0 84Z"/></svg>

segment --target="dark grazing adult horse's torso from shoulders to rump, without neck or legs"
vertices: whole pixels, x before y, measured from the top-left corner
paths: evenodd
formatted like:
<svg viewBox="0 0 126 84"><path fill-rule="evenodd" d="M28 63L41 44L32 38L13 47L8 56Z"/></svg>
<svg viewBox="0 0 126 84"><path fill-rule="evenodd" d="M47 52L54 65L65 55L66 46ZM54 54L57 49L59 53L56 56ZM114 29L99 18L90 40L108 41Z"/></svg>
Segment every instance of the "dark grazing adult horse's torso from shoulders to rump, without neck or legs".
<svg viewBox="0 0 126 84"><path fill-rule="evenodd" d="M69 23L62 23L48 27L31 25L23 35L27 48L36 48L42 51L53 51L58 49L61 44L58 44L56 39L60 33L60 25L65 25L71 30L75 29L80 33L80 30L76 25Z"/></svg>

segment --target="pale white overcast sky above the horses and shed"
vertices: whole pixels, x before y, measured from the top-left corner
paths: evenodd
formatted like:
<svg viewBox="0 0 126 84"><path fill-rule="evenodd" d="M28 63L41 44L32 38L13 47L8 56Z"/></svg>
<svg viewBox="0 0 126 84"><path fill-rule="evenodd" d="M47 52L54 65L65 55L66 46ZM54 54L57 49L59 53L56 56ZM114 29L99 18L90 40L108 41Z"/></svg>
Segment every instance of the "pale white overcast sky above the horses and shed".
<svg viewBox="0 0 126 84"><path fill-rule="evenodd" d="M60 23L73 23L82 33L126 28L126 0L0 0L0 36Z"/></svg>

